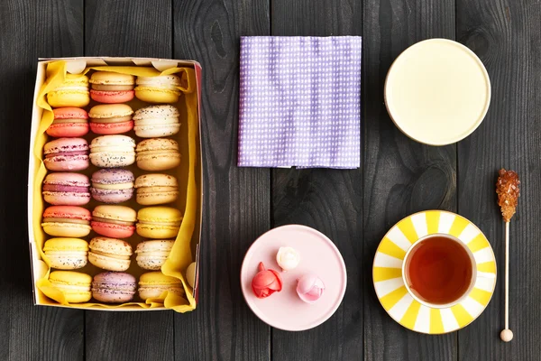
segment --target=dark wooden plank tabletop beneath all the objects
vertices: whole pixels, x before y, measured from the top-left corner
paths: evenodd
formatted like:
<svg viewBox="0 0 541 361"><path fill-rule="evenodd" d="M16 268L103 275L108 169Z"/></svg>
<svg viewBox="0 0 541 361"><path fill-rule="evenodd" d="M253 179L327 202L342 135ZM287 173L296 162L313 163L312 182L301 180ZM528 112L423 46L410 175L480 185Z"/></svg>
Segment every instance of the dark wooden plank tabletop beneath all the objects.
<svg viewBox="0 0 541 361"><path fill-rule="evenodd" d="M539 360L541 359L541 3L538 0L215 0L0 2L0 360ZM362 35L362 168L236 167L241 35ZM413 44L462 42L491 76L491 108L460 143L415 143L383 104L390 63ZM203 66L206 178L200 304L189 314L32 306L26 179L38 57L193 59ZM510 325L503 283L479 319L425 336L390 319L371 263L381 236L428 208L470 218L503 271L496 171L518 171L511 227ZM335 241L347 265L344 301L322 326L271 329L247 308L239 270L252 241L299 223Z"/></svg>

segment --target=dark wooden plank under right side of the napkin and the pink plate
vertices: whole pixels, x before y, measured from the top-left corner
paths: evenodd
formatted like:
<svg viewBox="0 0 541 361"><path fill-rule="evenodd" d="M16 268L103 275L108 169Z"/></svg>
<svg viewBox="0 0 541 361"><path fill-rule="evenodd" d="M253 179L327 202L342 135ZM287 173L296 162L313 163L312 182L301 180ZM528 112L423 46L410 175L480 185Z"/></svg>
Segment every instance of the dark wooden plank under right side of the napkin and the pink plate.
<svg viewBox="0 0 541 361"><path fill-rule="evenodd" d="M274 0L272 35L361 35L362 3ZM273 170L273 227L301 224L332 239L348 284L335 315L304 332L272 330L277 360L362 358L362 170Z"/></svg>

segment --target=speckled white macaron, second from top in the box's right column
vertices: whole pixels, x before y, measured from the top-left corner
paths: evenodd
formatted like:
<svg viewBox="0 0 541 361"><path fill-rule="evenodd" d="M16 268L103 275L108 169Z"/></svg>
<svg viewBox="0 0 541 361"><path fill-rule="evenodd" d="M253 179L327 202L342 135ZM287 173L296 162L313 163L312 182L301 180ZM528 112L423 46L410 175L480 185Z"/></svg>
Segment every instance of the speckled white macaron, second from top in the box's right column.
<svg viewBox="0 0 541 361"><path fill-rule="evenodd" d="M159 138L179 133L179 109L175 106L145 106L133 114L135 134L142 138Z"/></svg>

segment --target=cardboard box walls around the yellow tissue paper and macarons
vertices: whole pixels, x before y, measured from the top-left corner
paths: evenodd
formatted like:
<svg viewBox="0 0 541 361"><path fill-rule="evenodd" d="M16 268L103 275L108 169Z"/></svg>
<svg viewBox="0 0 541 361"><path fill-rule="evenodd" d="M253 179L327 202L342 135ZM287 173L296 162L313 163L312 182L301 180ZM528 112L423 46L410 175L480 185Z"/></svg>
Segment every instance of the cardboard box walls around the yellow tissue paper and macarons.
<svg viewBox="0 0 541 361"><path fill-rule="evenodd" d="M41 166L41 160L35 155L35 147L36 143L38 144L43 142L43 136L40 131L40 124L41 119L43 116L43 113L45 110L38 106L38 100L40 96L41 87L46 81L47 78L47 67L48 65L57 60L65 60L66 61L66 70L69 73L72 74L79 74L83 71L85 71L88 68L94 68L94 67L102 67L102 66L128 66L128 67L146 67L146 68L154 68L158 71L164 71L171 68L189 68L193 69L195 71L195 79L196 79L196 89L195 92L197 94L197 139L196 139L196 157L195 157L195 171L192 173L194 175L195 183L197 186L197 209L195 214L195 227L193 230L193 234L191 236L190 240L190 248L192 252L193 260L197 262L197 271L196 271L196 283L194 286L194 290L192 293L192 300L193 303L189 305L189 308L183 308L180 307L179 310L181 312L186 310L192 310L195 308L195 303L197 303L197 295L198 295L198 279L199 279L199 240L201 236L201 215L202 215L202 209L203 209L203 190L204 190L204 184L203 184L203 174L202 174L202 155L201 155L201 127L200 127L200 99L201 99L201 66L197 61L194 60L160 60L160 59L151 59L151 58L110 58L110 57L85 57L85 58L57 58L57 59L40 59L38 62L38 69L37 69L37 76L36 76L36 84L35 84L35 90L34 90L34 97L33 97L33 108L32 108L32 131L31 131L31 142L30 142L30 155L29 155L29 179L28 179L28 231L29 231L29 241L30 241L30 255L31 255L31 265L32 265L32 289L33 289L33 301L36 305L47 305L47 306L55 306L55 307L70 307L70 308L77 308L77 309L85 309L85 310L167 310L164 306L158 306L153 305L152 308L143 308L142 306L138 306L136 304L129 304L124 305L122 307L113 307L113 308L105 308L104 306L100 305L78 305L78 304L70 304L70 305L62 305L57 301L51 300L49 297L47 297L43 292L41 292L40 288L36 286L36 282L41 280L48 272L49 272L49 266L45 263L45 261L41 257L41 249L39 249L39 245L36 242L37 238L42 238L44 236L44 233L41 229L41 227L36 227L36 225L39 225L41 222L41 211L42 208L45 207L44 201L41 197L41 180L36 179L36 173L38 173L38 169ZM90 70L92 71L92 70ZM190 73L193 74L193 72ZM89 75L90 73L88 73ZM179 174L177 176L179 180L179 198L184 197L183 200L179 200L180 203L184 202L186 204L186 193L188 189L188 180L183 179L187 177L188 172L186 171L189 167L186 165L188 162L188 141L186 143L183 143L186 139L188 139L188 121L186 118L183 118L183 116L187 115L187 105L183 105L182 102L185 102L187 97L181 96L179 99L179 103L176 105L179 107L180 110L180 122L181 122L181 130L179 134L175 134L171 136L171 138L177 140L180 146L180 153L181 153L181 165L179 167ZM138 101L137 99L134 99L135 103L141 101ZM187 102L187 101L186 101ZM90 105L86 108L88 109L90 106L93 106L95 102L91 101ZM130 104L132 102L129 102ZM150 104L147 104L150 105ZM182 109L182 107L185 107ZM139 106L133 106L133 110L136 110L138 107L141 107L141 104ZM46 135L46 134L45 134ZM132 135L132 134L128 134ZM178 136L178 138L176 138ZM137 139L136 139L137 141ZM46 141L45 141L46 142ZM184 165L183 165L184 164ZM191 168L190 168L191 169ZM186 171L186 172L185 172ZM38 186L38 182L40 183ZM184 194L184 196L182 196ZM41 203L40 200L41 199ZM192 198L193 199L193 198ZM192 202L193 203L193 202ZM182 207L182 206L179 206ZM90 208L91 209L91 208ZM185 210L183 208L180 208L181 210ZM37 219L39 217L39 219ZM39 229L37 229L39 228ZM180 233L180 232L179 232ZM50 237L50 236L47 236ZM90 239L90 236L86 237L87 240ZM42 239L41 239L42 241ZM179 238L177 239L177 242L179 242ZM133 244L132 244L133 245ZM133 250L135 249L135 245L133 245ZM90 271L87 270L87 267L94 267L94 269L91 269ZM137 267L137 264L135 262L135 255L132 256L132 265L130 266L130 270L127 271L128 273L133 270L134 267ZM83 269L81 269L81 272L87 272L87 273L96 273L96 272L104 272L104 270L97 270L95 266L91 264L87 264L87 266ZM79 271L79 270L74 270ZM140 273L144 273L148 271L140 270L138 274L134 274L136 278L138 278ZM184 272L184 271L182 271ZM94 274L91 274L94 275ZM145 306L148 307L148 306Z"/></svg>

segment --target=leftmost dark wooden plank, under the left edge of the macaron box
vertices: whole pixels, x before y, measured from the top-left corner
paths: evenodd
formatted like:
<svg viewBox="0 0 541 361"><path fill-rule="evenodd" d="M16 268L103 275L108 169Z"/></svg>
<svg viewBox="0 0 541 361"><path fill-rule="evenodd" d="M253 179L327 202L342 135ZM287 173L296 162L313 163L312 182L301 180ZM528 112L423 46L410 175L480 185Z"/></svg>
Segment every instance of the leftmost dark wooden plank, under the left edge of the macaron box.
<svg viewBox="0 0 541 361"><path fill-rule="evenodd" d="M81 55L82 14L79 0L0 3L2 360L83 358L83 311L33 306L24 186L37 59Z"/></svg>

